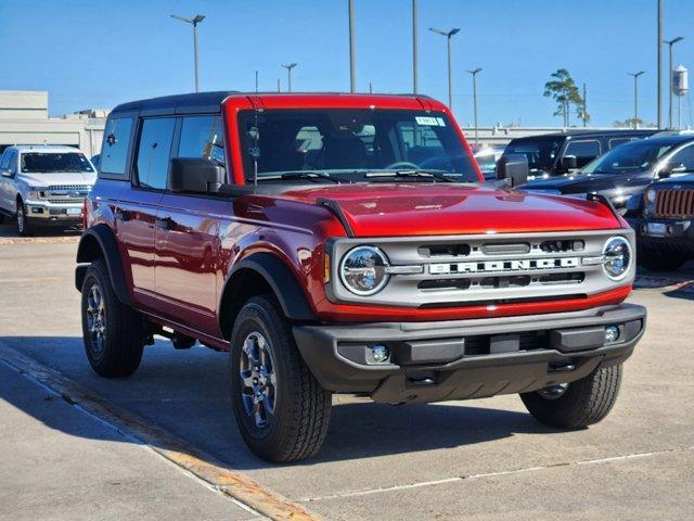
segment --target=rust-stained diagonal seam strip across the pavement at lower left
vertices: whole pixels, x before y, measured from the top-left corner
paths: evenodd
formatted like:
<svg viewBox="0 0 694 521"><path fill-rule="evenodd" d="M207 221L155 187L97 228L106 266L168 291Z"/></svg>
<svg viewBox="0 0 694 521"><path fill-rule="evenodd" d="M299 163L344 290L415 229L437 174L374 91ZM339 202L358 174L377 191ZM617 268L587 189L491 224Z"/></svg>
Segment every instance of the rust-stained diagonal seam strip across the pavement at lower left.
<svg viewBox="0 0 694 521"><path fill-rule="evenodd" d="M108 403L37 360L0 341L0 363L36 382L102 424L153 450L187 475L229 497L261 519L313 521L318 516L249 478L230 470L213 456L192 447L167 431Z"/></svg>

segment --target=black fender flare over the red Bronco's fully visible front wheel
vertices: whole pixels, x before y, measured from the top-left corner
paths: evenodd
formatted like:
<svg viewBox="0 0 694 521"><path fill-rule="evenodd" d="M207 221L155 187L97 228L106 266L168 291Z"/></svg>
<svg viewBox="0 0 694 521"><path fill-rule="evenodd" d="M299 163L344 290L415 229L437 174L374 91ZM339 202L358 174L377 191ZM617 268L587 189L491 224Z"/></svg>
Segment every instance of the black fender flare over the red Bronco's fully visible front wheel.
<svg viewBox="0 0 694 521"><path fill-rule="evenodd" d="M219 309L217 318L220 321L219 326L222 327L222 331L223 323L221 322L226 319L226 310L234 307L234 303L228 302L228 297L232 294L231 292L233 292L232 285L235 276L242 270L255 271L255 274L265 279L277 296L285 317L300 321L318 320L308 303L304 290L301 290L299 282L286 264L277 255L259 252L249 255L234 265L227 276L220 295L219 306L217 307L217 309ZM240 305L241 303L237 304Z"/></svg>

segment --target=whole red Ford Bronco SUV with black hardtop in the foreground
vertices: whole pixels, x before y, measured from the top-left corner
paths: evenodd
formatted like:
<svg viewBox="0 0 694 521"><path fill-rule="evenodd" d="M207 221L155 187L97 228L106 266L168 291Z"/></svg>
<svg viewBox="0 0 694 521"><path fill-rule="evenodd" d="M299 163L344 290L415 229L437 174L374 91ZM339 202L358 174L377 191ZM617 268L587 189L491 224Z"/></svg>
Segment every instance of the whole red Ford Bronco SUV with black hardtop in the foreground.
<svg viewBox="0 0 694 521"><path fill-rule="evenodd" d="M645 327L609 204L484 182L421 96L209 92L117 106L77 253L85 350L127 377L153 335L230 353L248 447L313 455L332 393L389 404L519 393L581 428ZM511 181L511 182L509 182Z"/></svg>

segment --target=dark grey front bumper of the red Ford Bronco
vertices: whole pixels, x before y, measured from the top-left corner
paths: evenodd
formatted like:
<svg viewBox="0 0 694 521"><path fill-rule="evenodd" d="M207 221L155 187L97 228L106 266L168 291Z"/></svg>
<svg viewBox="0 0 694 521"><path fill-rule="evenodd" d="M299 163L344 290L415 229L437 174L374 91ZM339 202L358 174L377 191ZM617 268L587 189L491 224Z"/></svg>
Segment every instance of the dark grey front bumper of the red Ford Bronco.
<svg viewBox="0 0 694 521"><path fill-rule="evenodd" d="M620 304L584 312L440 322L295 326L311 372L327 390L376 402L428 403L536 391L626 360L646 310ZM619 335L605 342L605 328ZM389 358L375 363L371 347Z"/></svg>

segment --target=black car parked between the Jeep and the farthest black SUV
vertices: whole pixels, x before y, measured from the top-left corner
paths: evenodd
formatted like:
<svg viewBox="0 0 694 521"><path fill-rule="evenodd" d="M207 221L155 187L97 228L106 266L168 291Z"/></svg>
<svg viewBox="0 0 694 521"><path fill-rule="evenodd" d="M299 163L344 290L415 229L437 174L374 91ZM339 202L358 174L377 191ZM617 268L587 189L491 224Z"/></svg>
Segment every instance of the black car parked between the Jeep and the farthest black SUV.
<svg viewBox="0 0 694 521"><path fill-rule="evenodd" d="M627 201L657 178L694 171L694 135L640 139L622 144L586 165L581 170L550 179L536 179L520 190L605 195L626 211Z"/></svg>

